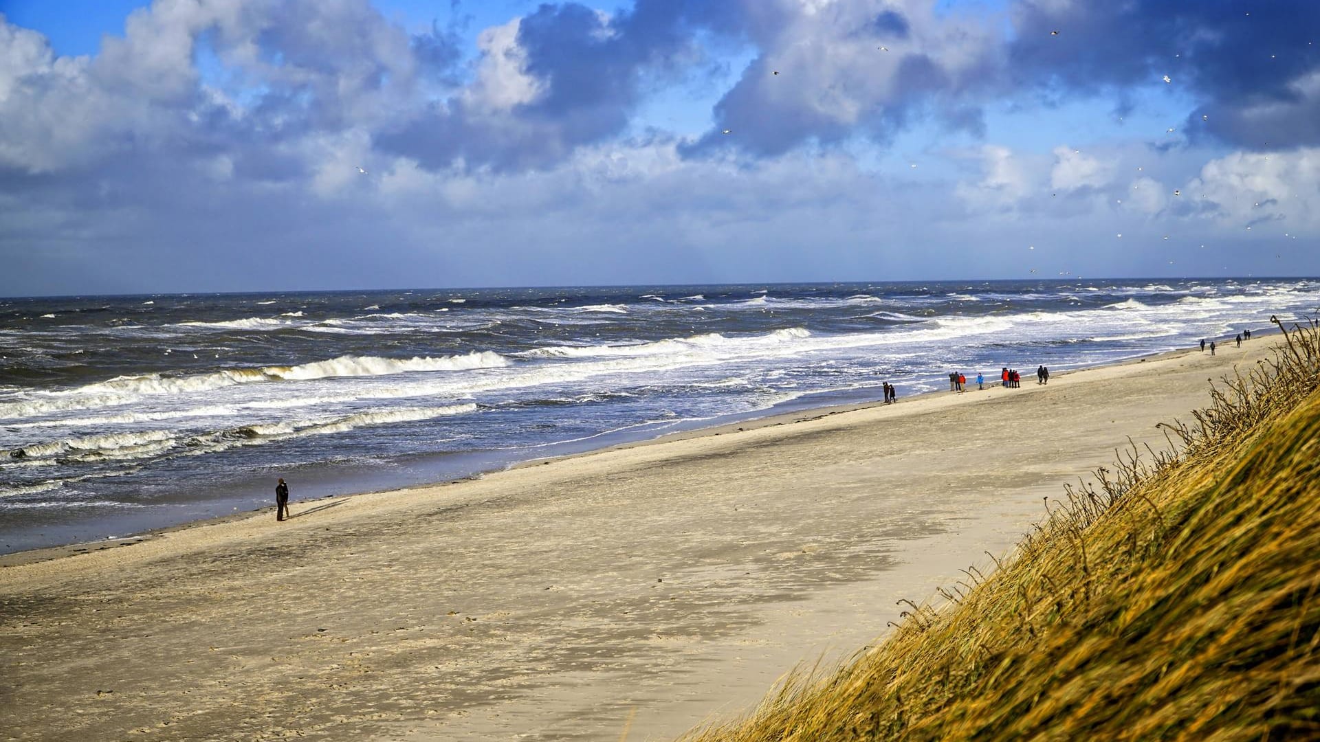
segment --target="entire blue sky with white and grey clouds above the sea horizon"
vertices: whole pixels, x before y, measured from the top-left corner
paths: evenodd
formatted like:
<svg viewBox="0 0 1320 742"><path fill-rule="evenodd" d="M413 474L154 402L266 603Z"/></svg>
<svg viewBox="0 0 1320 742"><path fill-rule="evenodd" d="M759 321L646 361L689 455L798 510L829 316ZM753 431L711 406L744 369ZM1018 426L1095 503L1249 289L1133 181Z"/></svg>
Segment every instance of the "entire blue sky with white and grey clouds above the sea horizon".
<svg viewBox="0 0 1320 742"><path fill-rule="evenodd" d="M0 296L1317 276L1317 45L1313 0L0 0Z"/></svg>

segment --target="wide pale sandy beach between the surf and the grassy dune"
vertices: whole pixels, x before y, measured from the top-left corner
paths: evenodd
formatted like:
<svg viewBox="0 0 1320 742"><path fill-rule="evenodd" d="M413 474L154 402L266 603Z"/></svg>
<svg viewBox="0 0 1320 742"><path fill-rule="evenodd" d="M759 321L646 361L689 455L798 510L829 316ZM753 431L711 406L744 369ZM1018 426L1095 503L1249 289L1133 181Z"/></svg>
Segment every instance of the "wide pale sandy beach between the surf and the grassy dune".
<svg viewBox="0 0 1320 742"><path fill-rule="evenodd" d="M1045 495L1127 436L1166 445L1156 422L1267 347L16 555L0 737L671 738L987 570Z"/></svg>

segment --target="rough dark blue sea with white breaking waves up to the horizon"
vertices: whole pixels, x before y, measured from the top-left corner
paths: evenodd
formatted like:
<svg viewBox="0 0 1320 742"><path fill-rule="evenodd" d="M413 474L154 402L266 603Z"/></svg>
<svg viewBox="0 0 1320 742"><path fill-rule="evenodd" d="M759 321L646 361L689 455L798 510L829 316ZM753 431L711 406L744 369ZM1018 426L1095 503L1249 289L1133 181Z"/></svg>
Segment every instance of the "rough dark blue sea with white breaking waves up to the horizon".
<svg viewBox="0 0 1320 742"><path fill-rule="evenodd" d="M271 506L277 477L294 503L451 481L1317 308L1315 279L0 298L0 553Z"/></svg>

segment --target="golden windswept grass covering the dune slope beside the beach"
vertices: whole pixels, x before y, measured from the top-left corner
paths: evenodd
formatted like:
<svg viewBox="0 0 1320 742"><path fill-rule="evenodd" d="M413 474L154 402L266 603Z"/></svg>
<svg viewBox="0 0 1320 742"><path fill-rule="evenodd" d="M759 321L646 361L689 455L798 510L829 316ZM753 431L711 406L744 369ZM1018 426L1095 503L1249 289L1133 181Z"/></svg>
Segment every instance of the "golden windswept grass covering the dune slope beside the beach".
<svg viewBox="0 0 1320 742"><path fill-rule="evenodd" d="M1317 370L1295 325L940 610L684 741L1320 738Z"/></svg>

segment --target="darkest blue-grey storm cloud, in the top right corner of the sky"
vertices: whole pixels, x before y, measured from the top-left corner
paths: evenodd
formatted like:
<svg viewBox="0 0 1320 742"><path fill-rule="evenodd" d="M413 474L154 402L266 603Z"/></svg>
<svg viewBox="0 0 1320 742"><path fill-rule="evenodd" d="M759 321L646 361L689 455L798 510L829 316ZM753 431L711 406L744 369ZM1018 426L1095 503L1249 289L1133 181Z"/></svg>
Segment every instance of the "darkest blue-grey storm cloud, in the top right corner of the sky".
<svg viewBox="0 0 1320 742"><path fill-rule="evenodd" d="M1171 90L1199 100L1185 127L1192 137L1320 143L1320 3L1022 0L1014 28L1018 84L1106 92L1168 75Z"/></svg>

